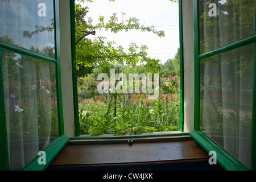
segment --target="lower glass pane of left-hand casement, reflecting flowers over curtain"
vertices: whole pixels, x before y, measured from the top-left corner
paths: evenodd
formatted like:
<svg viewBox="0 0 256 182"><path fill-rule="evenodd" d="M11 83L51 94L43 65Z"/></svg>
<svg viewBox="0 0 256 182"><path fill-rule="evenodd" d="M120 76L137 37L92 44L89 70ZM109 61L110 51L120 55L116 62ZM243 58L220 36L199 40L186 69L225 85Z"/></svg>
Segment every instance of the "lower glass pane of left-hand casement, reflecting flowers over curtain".
<svg viewBox="0 0 256 182"><path fill-rule="evenodd" d="M2 51L11 170L22 169L59 136L55 64Z"/></svg>

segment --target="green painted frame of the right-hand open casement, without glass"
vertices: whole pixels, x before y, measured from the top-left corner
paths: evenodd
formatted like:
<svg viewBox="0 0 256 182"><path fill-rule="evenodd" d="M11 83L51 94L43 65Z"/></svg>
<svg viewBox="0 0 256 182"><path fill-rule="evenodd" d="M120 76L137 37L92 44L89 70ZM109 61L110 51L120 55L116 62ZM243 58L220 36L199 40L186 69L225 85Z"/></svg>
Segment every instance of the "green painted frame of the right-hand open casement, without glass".
<svg viewBox="0 0 256 182"><path fill-rule="evenodd" d="M200 131L200 60L210 56L224 53L235 48L255 44L256 34L247 36L235 42L218 47L212 51L200 54L200 40L199 40L199 1L193 0L193 24L194 24L194 46L195 46L195 115L194 115L194 130L190 133L191 137L195 139L207 152L216 151L217 163L226 170L249 170L240 161L229 154L219 144L210 139L207 135ZM254 59L254 85L256 85L256 57ZM255 121L255 97L256 88L253 90L253 120L252 120L252 136L251 136L251 170L256 169L256 121Z"/></svg>

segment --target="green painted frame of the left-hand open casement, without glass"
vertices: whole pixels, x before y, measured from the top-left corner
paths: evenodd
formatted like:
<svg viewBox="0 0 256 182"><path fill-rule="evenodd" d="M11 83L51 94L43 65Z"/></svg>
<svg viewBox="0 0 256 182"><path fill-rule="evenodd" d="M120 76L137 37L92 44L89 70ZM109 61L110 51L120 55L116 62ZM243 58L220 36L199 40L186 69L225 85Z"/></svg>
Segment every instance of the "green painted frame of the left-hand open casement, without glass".
<svg viewBox="0 0 256 182"><path fill-rule="evenodd" d="M28 49L9 44L0 40L0 170L9 170L9 154L7 144L7 128L6 128L6 115L5 115L5 102L4 88L3 88L3 69L2 69L2 50L18 53L23 56L30 57L32 59L38 59L42 63L48 62L55 64L56 68L56 84L57 84L57 113L59 121L59 137L55 138L45 149L46 152L46 164L39 164L38 159L40 156L36 156L30 163L28 163L23 170L39 171L44 170L49 163L55 158L59 151L67 144L69 137L64 134L63 123L63 105L61 96L61 71L60 71L60 16L59 16L59 0L53 0L53 10L55 17L55 57L47 57L40 55L39 53L32 52Z"/></svg>

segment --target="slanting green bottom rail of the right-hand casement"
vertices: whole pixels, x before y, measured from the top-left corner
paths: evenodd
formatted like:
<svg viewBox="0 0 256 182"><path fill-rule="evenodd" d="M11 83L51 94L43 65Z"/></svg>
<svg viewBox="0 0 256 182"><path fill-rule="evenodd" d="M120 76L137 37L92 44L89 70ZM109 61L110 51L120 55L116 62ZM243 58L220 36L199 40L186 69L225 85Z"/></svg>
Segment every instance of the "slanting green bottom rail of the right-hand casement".
<svg viewBox="0 0 256 182"><path fill-rule="evenodd" d="M215 151L217 156L217 163L227 171L248 171L249 169L243 166L236 158L230 155L224 148L213 142L212 139L207 137L200 131L192 131L189 135L204 148L205 151Z"/></svg>

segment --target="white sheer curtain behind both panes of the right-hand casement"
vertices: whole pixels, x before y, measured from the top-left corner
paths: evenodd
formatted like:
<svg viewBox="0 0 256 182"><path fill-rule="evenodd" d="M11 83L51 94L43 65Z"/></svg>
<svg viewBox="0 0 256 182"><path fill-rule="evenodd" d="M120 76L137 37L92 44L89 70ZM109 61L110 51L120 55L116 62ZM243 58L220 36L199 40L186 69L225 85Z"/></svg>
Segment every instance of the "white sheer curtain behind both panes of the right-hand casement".
<svg viewBox="0 0 256 182"><path fill-rule="evenodd" d="M208 14L209 3L217 16ZM199 1L200 51L255 34L256 1ZM255 45L201 60L201 131L250 168Z"/></svg>

